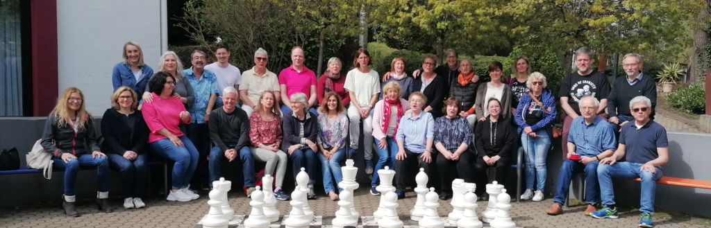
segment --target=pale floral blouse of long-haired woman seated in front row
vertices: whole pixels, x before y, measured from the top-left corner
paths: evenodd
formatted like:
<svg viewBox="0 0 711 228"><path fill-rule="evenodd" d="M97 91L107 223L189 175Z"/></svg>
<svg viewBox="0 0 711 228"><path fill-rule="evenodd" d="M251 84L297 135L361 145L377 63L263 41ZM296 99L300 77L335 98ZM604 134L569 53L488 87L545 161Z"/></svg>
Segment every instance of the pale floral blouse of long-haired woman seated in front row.
<svg viewBox="0 0 711 228"><path fill-rule="evenodd" d="M316 139L325 148L346 146L346 136L348 136L348 116L338 114L338 119L329 119L328 114L320 114L318 117L319 137Z"/></svg>

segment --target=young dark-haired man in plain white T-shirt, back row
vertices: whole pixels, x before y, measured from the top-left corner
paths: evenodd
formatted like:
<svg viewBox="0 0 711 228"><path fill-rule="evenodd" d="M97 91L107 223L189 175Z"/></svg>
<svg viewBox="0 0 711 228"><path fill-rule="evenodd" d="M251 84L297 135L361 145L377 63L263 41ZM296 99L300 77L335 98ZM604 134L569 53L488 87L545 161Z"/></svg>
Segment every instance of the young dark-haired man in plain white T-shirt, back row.
<svg viewBox="0 0 711 228"><path fill-rule="evenodd" d="M240 68L237 68L230 64L230 47L227 43L218 42L217 50L215 50L215 57L218 61L205 66L205 70L210 70L215 73L218 78L218 92L222 92L226 87L235 87L235 89L240 89L240 79L242 73ZM240 94L237 94L237 102L240 101ZM218 104L217 107L222 107L223 99L222 94L218 94ZM239 104L236 104L240 107Z"/></svg>

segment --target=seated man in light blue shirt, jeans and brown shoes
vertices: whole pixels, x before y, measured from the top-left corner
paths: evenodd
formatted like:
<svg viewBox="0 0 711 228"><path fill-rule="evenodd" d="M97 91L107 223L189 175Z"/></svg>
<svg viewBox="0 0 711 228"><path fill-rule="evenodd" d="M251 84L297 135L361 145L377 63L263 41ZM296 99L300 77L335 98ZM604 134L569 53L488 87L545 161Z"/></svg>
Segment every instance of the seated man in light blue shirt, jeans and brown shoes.
<svg viewBox="0 0 711 228"><path fill-rule="evenodd" d="M548 215L560 215L562 205L570 188L573 175L585 173L585 200L587 209L584 214L595 212L599 195L597 185L597 165L603 158L611 156L615 149L615 136L612 126L597 116L600 102L595 97L583 97L578 103L581 116L573 119L567 138L568 153L566 158L577 154L579 159L563 161L558 174L558 183L553 198L553 205L545 212Z"/></svg>

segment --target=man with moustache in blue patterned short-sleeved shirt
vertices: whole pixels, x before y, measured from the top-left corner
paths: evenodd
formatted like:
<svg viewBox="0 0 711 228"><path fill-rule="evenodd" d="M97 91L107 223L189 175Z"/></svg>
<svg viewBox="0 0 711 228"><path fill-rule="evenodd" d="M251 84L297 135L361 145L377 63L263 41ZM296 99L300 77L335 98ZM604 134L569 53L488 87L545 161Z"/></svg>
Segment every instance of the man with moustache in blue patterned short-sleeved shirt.
<svg viewBox="0 0 711 228"><path fill-rule="evenodd" d="M183 74L188 78L193 92L195 93L195 104L188 108L188 112L193 117L193 121L188 124L186 134L198 149L198 168L193 175L193 186L199 186L203 190L208 188L208 119L213 111L215 100L218 96L218 84L215 74L210 70L205 70L205 53L201 50L193 50L191 55L190 69L183 70Z"/></svg>

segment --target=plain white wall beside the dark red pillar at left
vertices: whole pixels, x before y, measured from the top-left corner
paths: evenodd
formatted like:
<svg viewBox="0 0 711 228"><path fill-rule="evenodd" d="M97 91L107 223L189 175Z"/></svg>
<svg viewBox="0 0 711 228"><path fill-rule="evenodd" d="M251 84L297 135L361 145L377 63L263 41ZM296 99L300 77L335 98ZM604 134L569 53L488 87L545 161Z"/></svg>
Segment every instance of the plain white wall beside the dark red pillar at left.
<svg viewBox="0 0 711 228"><path fill-rule="evenodd" d="M160 10L160 1L154 0L58 0L59 93L81 89L89 112L102 116L111 106L112 67L122 61L124 43L139 43L146 65L156 68Z"/></svg>

